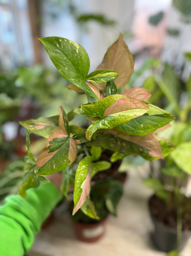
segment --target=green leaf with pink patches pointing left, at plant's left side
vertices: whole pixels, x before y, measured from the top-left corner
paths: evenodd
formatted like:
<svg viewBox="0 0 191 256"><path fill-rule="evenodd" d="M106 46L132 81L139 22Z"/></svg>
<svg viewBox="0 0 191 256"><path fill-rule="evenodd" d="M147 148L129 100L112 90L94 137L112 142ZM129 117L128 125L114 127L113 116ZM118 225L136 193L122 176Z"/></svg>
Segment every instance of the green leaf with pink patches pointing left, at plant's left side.
<svg viewBox="0 0 191 256"><path fill-rule="evenodd" d="M38 134L44 138L48 138L58 126L58 116L40 117L34 120L19 122L27 130Z"/></svg>

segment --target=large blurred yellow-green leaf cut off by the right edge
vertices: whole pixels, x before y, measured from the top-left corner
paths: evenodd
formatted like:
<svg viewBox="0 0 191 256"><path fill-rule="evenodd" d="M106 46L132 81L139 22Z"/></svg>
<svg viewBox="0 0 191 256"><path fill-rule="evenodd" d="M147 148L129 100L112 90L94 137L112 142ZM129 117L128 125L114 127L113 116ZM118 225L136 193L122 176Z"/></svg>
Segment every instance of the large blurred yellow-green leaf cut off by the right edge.
<svg viewBox="0 0 191 256"><path fill-rule="evenodd" d="M181 170L191 174L191 142L179 144L170 156Z"/></svg>

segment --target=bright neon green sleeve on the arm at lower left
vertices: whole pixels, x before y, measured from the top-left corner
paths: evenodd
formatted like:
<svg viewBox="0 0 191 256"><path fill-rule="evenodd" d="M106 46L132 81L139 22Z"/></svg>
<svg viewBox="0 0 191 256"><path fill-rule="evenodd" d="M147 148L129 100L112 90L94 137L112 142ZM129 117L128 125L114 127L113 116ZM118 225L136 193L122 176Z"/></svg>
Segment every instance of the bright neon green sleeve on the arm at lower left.
<svg viewBox="0 0 191 256"><path fill-rule="evenodd" d="M28 198L9 196L0 207L0 255L23 256L34 242L43 221L62 198L52 184L27 190Z"/></svg>

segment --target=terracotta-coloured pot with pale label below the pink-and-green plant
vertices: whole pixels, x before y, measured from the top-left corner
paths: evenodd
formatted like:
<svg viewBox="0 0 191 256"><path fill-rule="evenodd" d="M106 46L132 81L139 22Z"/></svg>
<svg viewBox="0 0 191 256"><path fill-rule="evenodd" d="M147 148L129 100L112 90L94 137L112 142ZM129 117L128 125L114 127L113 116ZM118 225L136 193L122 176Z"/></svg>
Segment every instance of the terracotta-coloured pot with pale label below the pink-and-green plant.
<svg viewBox="0 0 191 256"><path fill-rule="evenodd" d="M77 238L83 242L96 242L105 233L105 224L107 218L98 223L81 223L74 222L74 228Z"/></svg>

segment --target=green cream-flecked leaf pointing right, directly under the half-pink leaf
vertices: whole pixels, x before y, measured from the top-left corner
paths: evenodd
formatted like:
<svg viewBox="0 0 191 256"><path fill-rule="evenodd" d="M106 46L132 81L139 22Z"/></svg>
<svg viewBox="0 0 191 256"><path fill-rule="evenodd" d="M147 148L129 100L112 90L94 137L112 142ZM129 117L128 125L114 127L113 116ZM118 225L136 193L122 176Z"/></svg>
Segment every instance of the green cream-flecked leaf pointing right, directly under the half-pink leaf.
<svg viewBox="0 0 191 256"><path fill-rule="evenodd" d="M147 135L153 133L157 129L163 127L167 123L175 119L170 113L150 104L148 105L149 110L146 114L134 118L128 123L117 126L120 131L123 131L129 135Z"/></svg>

